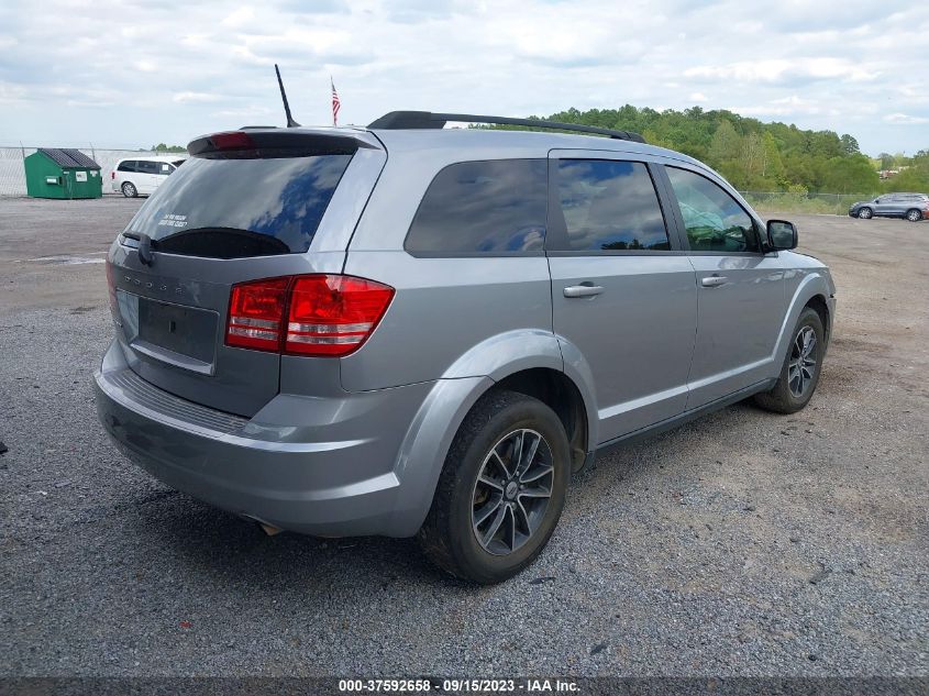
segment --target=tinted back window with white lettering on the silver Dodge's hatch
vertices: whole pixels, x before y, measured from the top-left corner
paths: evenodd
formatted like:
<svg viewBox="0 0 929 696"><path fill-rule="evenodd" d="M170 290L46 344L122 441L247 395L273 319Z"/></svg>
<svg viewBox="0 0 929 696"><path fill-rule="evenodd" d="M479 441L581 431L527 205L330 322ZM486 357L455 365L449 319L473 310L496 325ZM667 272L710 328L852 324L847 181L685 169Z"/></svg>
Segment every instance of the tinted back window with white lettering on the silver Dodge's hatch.
<svg viewBox="0 0 929 696"><path fill-rule="evenodd" d="M191 157L139 210L126 231L157 251L239 258L301 254L352 155Z"/></svg>

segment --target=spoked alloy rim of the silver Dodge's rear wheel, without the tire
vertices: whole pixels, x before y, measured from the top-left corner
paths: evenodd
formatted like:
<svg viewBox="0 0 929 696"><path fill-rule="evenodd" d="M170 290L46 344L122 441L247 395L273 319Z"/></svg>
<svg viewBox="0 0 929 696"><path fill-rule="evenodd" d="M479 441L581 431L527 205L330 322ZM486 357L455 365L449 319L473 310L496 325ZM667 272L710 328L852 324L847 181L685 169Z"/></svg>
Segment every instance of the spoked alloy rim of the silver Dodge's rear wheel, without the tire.
<svg viewBox="0 0 929 696"><path fill-rule="evenodd" d="M495 444L472 495L472 528L480 546L507 555L538 531L552 497L552 449L541 433L520 429Z"/></svg>

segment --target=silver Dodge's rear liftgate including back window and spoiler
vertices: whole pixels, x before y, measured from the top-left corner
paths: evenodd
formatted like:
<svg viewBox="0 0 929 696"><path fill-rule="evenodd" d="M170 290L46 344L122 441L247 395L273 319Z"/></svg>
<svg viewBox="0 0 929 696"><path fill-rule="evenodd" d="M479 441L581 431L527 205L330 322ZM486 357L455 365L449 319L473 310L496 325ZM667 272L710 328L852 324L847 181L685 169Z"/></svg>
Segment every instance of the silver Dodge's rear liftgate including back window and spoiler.
<svg viewBox="0 0 929 696"><path fill-rule="evenodd" d="M117 335L143 379L251 417L278 393L281 357L228 344L233 286L341 273L386 153L364 131L303 129L219 133L189 150L110 250ZM338 382L338 360L301 360Z"/></svg>

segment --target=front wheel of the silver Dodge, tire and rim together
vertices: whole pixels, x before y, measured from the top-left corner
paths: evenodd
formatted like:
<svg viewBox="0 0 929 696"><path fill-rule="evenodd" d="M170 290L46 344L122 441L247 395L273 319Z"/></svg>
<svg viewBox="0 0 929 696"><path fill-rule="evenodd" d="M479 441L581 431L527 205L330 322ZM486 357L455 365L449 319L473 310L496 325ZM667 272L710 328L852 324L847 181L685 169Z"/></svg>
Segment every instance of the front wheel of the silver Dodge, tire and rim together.
<svg viewBox="0 0 929 696"><path fill-rule="evenodd" d="M777 383L771 391L756 394L755 404L776 413L795 413L803 409L819 384L825 354L822 320L815 309L806 307L794 328Z"/></svg>

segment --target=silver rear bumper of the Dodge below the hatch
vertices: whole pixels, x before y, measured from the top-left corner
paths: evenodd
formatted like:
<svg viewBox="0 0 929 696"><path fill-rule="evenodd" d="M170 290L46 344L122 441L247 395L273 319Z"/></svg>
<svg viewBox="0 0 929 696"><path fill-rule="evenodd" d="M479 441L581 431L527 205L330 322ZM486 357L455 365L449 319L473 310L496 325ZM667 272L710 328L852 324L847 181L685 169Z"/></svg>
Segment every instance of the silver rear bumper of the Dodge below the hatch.
<svg viewBox="0 0 929 696"><path fill-rule="evenodd" d="M431 383L342 398L278 395L250 420L142 380L118 343L95 382L112 440L173 488L309 534L401 537L418 527L397 510L395 466Z"/></svg>

